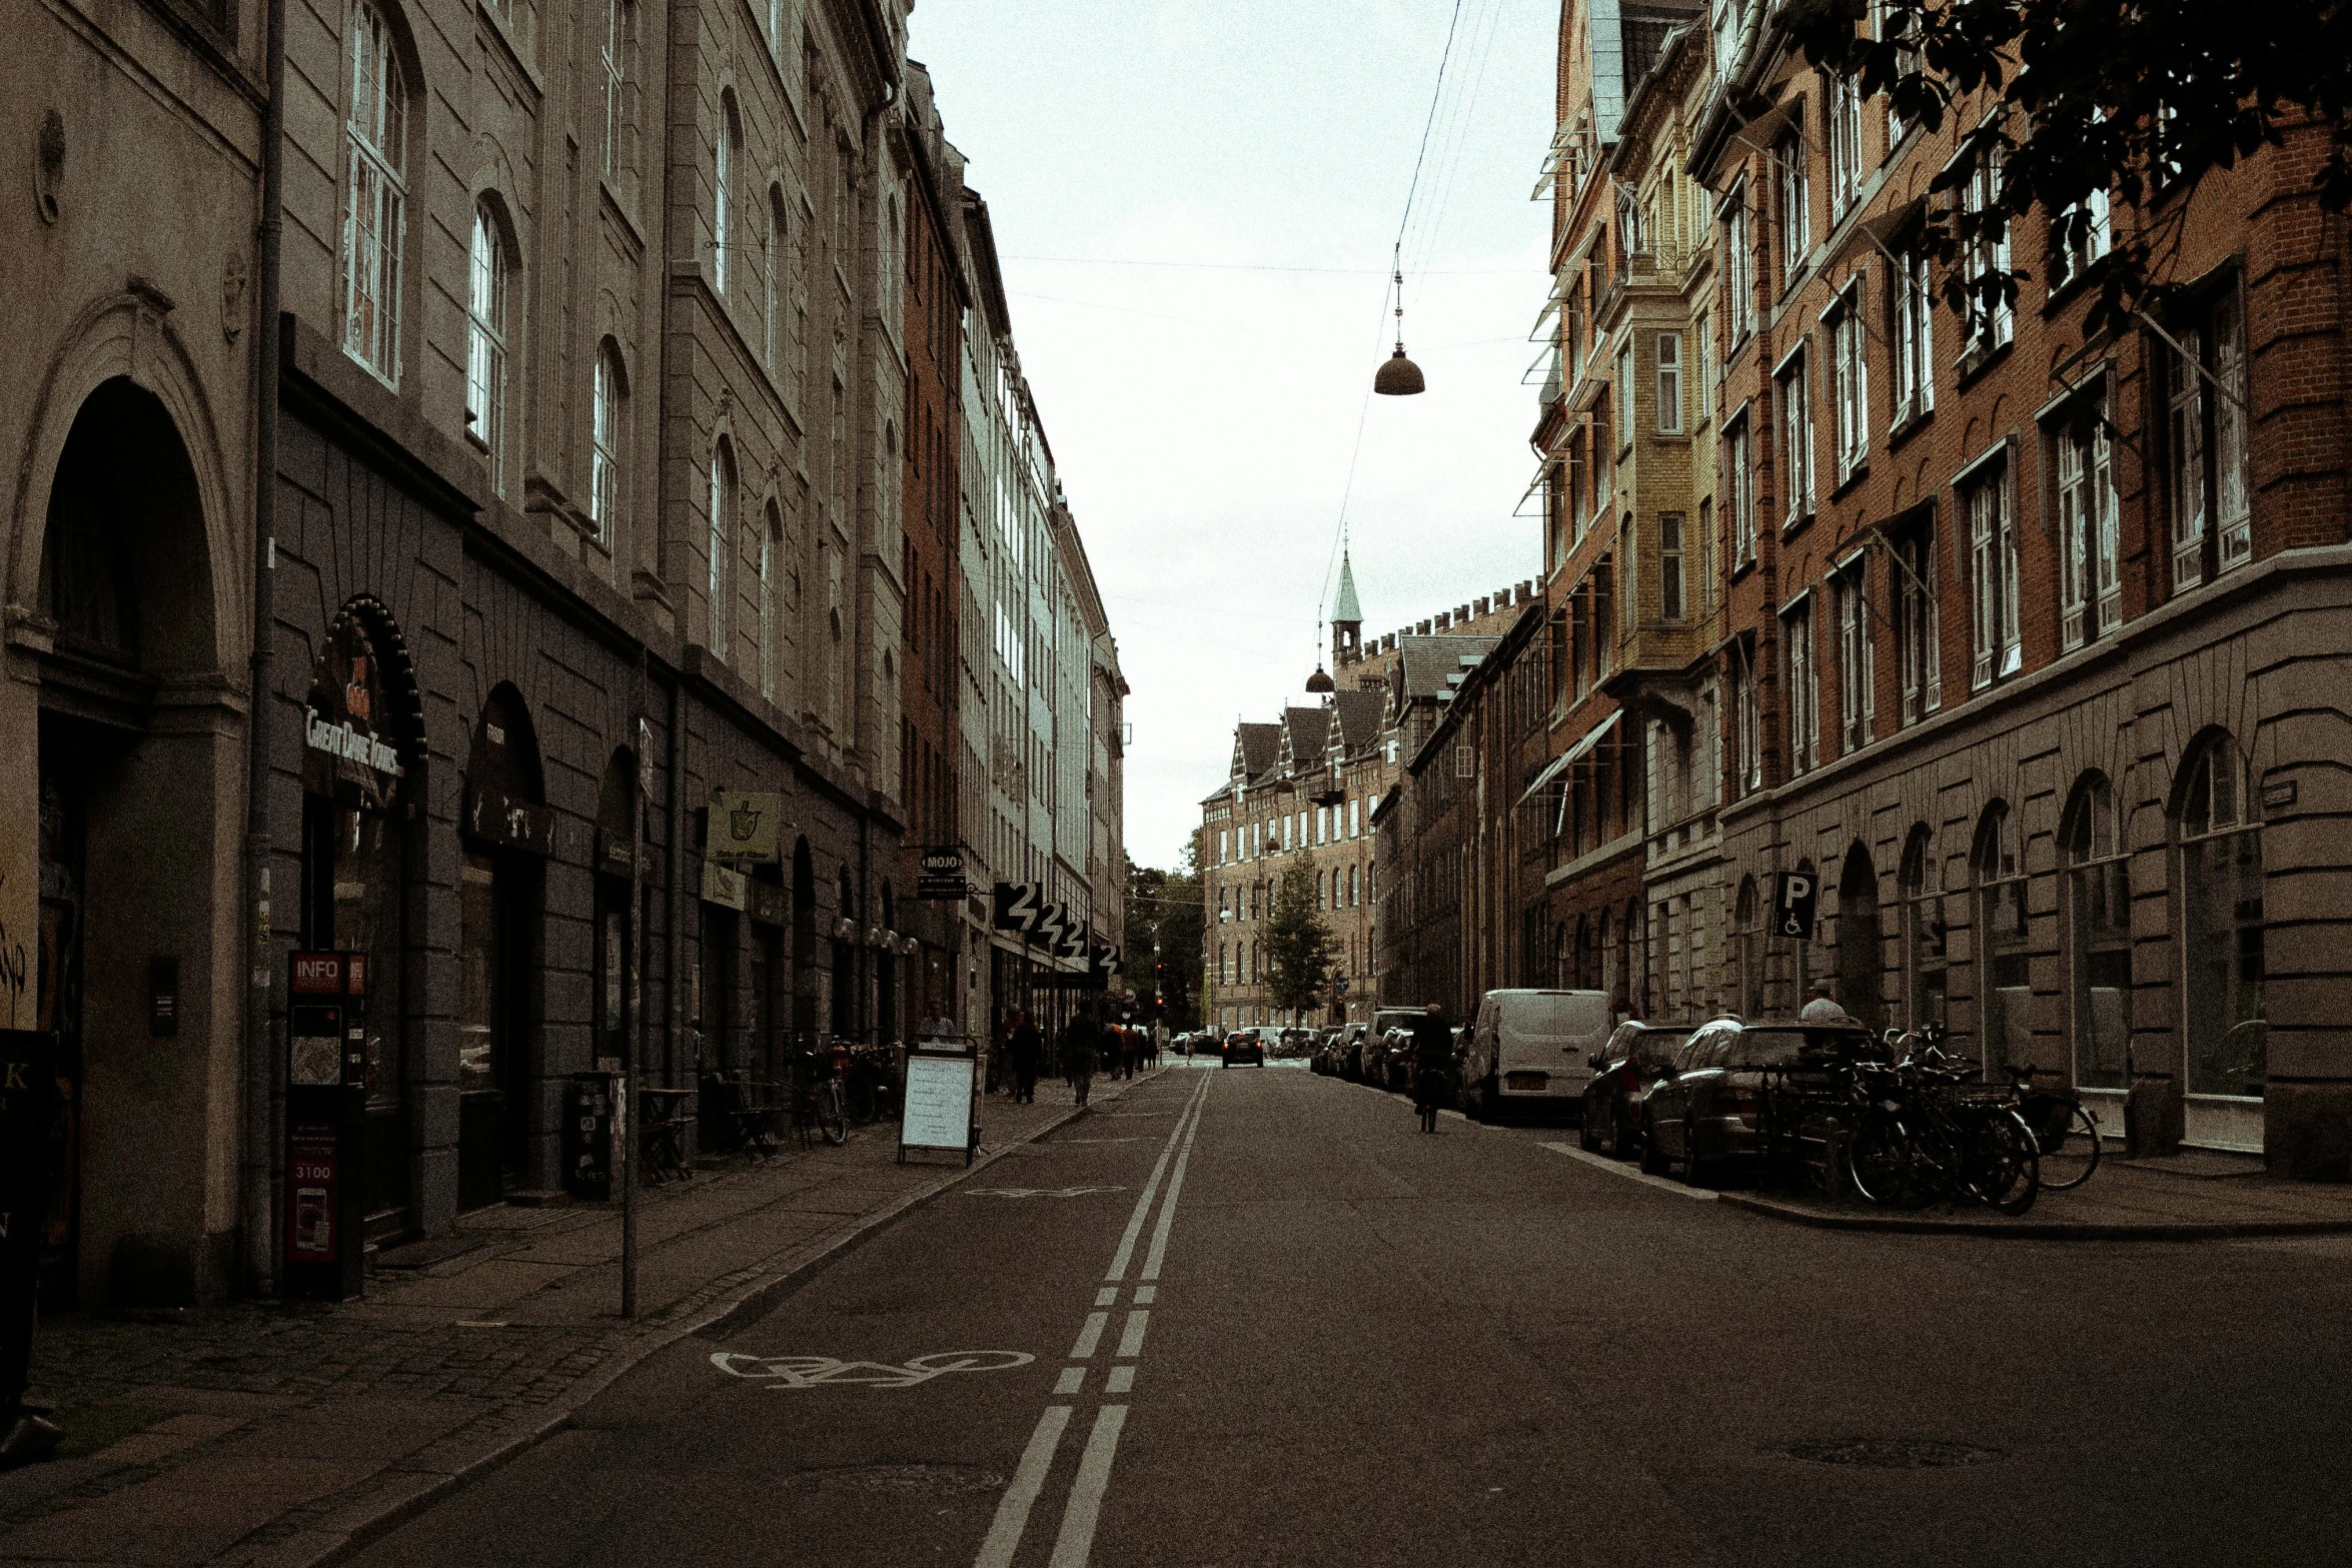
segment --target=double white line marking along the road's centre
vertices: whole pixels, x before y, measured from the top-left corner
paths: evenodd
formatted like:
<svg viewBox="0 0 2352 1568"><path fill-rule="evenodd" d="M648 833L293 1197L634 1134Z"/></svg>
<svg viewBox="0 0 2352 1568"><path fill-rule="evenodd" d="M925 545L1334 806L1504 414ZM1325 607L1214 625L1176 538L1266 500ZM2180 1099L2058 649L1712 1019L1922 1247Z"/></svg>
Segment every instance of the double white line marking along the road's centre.
<svg viewBox="0 0 2352 1568"><path fill-rule="evenodd" d="M1152 1166L1152 1178L1143 1185L1143 1197L1136 1199L1136 1211L1127 1218L1127 1229L1120 1234L1120 1251L1110 1255L1110 1269L1103 1274L1103 1286L1094 1293L1094 1312L1077 1328L1077 1340L1070 1345L1070 1361L1061 1371L1061 1382L1054 1385L1056 1394L1077 1394L1087 1385L1084 1361L1103 1347L1103 1333L1110 1328L1110 1309L1117 1307L1120 1293L1127 1288L1127 1269L1134 1265L1136 1244L1143 1239L1143 1225L1150 1220L1152 1199L1160 1197L1160 1182L1167 1180L1167 1199L1160 1204L1160 1222L1152 1227L1150 1248L1143 1253L1143 1272L1138 1279L1152 1284L1138 1284L1131 1293L1131 1307L1127 1321L1120 1326L1120 1345L1112 1356L1120 1361L1110 1368L1103 1380L1105 1394L1127 1394L1136 1387L1136 1363L1134 1359L1143 1354L1143 1335L1150 1328L1150 1305L1160 1295L1160 1265L1167 1260L1169 1251L1169 1227L1176 1222L1176 1199L1183 1194L1185 1164L1192 1159L1192 1138L1200 1135L1200 1107L1209 1098L1209 1084L1216 1079L1202 1077L1200 1088L1185 1100L1183 1114L1176 1117L1176 1128L1169 1140L1160 1147L1160 1161ZM1174 1171L1169 1161L1174 1159ZM1054 1472L1054 1455L1061 1453L1063 1432L1070 1429L1073 1406L1047 1406L1044 1415L1037 1418L1037 1429L1030 1432L1028 1448L1021 1450L1021 1465L1014 1469L1011 1486L1004 1488L1004 1497L997 1502L995 1523L988 1526L988 1540L981 1542L981 1554L974 1559L971 1568L1011 1568L1014 1554L1021 1549L1021 1535L1028 1530L1030 1509L1044 1493L1044 1483ZM1094 1413L1094 1429L1087 1434L1087 1448L1077 1455L1077 1476L1070 1481L1070 1500L1061 1512L1061 1533L1054 1537L1054 1556L1049 1568L1087 1568L1087 1559L1094 1552L1094 1526L1103 1514L1103 1493L1110 1488L1110 1462L1120 1453L1120 1432L1127 1429L1127 1406L1105 1403Z"/></svg>

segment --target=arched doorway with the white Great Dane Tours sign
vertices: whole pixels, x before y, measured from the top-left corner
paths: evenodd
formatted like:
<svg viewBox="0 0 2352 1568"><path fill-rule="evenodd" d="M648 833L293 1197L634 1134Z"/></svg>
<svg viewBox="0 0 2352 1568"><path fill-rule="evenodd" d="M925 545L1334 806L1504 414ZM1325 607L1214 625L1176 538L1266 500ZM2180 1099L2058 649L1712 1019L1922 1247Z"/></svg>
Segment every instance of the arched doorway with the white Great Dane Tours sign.
<svg viewBox="0 0 2352 1568"><path fill-rule="evenodd" d="M301 945L367 959L360 1201L374 1239L416 1229L402 905L421 736L400 630L374 599L353 599L320 642L303 710Z"/></svg>

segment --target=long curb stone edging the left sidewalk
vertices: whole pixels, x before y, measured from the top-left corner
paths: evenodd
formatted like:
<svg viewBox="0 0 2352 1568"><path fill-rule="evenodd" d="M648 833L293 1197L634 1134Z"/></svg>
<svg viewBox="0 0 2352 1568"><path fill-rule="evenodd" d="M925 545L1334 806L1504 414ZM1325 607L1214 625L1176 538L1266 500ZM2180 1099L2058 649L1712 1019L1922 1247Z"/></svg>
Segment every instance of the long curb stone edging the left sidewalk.
<svg viewBox="0 0 2352 1568"><path fill-rule="evenodd" d="M1148 1084L1162 1072L1167 1072L1167 1067L1138 1074L1134 1081ZM1120 1098L1124 1095L1127 1091L1122 1088ZM774 1309L793 1291L809 1284L828 1267L833 1267L856 1248L866 1246L868 1241L887 1232L891 1225L896 1225L913 1211L943 1197L967 1175L988 1168L990 1164L1002 1159L1009 1150L1037 1143L1047 1133L1070 1126L1080 1117L1087 1117L1091 1110L1094 1110L1091 1105L1073 1105L1070 1110L995 1147L981 1145L981 1154L969 1166L955 1166L950 1171L941 1171L941 1180L931 1182L929 1187L917 1187L915 1192L908 1192L906 1197L887 1204L884 1208L877 1208L875 1213L861 1218L856 1225L837 1234L816 1253L790 1265L788 1269L769 1274L764 1279L757 1279L739 1288L729 1300L706 1312L689 1314L687 1319L663 1326L661 1331L644 1335L642 1340L616 1347L604 1363L600 1363L595 1371L586 1373L579 1382L564 1389L553 1401L550 1413L534 1413L536 1418L524 1415L522 1422L513 1420L499 1422L499 1427L506 1429L506 1436L492 1441L487 1448L475 1453L463 1465L456 1465L454 1469L419 1469L409 1467L407 1462L393 1462L383 1472L369 1476L355 1488L362 1493L360 1497L350 1497L341 1507L334 1507L334 1500L325 1500L329 1505L329 1512L318 1523L299 1528L280 1540L270 1540L259 1549L249 1547L247 1542L238 1542L228 1552L214 1556L212 1563L219 1568L329 1568L332 1563L348 1559L362 1547L393 1533L416 1514L423 1514L445 1497L463 1490L466 1486L480 1481L501 1465L508 1465L510 1460L548 1441L550 1436L569 1427L572 1420L588 1403L593 1403L604 1389L609 1389L614 1382L619 1382L635 1368L652 1361L656 1354L670 1349L680 1340L720 1333L746 1319ZM496 1422L496 1418L489 1420Z"/></svg>

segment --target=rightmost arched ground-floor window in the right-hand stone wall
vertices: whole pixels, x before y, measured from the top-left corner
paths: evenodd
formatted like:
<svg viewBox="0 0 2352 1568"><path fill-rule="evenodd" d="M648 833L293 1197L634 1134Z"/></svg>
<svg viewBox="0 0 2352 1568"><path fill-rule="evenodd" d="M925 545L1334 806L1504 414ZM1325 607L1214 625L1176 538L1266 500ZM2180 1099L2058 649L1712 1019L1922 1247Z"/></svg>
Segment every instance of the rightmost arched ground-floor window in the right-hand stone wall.
<svg viewBox="0 0 2352 1568"><path fill-rule="evenodd" d="M2209 736L2192 750L2185 771L2173 830L2180 842L2187 1093L2192 1100L2258 1100L2270 1077L2263 1023L2263 823L2237 741ZM2192 1105L2192 1140L2199 1140L2201 1119L2201 1107ZM2237 1135L2225 1140L2246 1143Z"/></svg>

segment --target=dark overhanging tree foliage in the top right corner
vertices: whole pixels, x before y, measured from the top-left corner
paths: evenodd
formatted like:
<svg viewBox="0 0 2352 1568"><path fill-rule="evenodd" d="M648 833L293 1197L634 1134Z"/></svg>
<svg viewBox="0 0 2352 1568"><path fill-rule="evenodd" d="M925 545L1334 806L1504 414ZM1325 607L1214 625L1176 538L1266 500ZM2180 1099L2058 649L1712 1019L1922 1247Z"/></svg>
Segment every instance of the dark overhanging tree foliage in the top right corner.
<svg viewBox="0 0 2352 1568"><path fill-rule="evenodd" d="M2084 282L2093 334L2187 282L2169 268L2187 223L2187 202L2164 200L2173 188L2317 127L2319 202L2352 207L2352 0L1813 0L1792 31L1907 125L1983 115L1931 190L1959 193L1976 160L1997 158L1997 197L1926 216L1922 249L1938 261L2039 219L2082 242L2105 195L2112 249ZM2063 256L2053 242L2044 280L2063 277ZM2023 275L1978 280L1976 303L2013 299ZM1947 284L1959 308L1969 289Z"/></svg>

